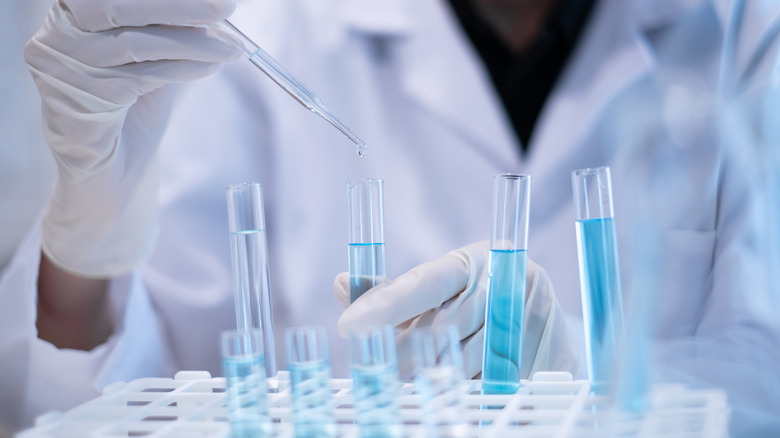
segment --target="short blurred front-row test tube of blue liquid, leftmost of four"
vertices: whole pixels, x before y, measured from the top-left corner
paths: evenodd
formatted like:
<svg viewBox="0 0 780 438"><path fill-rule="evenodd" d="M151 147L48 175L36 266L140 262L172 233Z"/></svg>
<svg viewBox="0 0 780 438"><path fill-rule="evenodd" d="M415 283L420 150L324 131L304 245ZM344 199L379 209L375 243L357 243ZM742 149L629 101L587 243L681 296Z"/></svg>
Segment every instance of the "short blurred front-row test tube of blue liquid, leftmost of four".
<svg viewBox="0 0 780 438"><path fill-rule="evenodd" d="M258 329L222 332L221 347L230 436L270 436L262 332Z"/></svg>

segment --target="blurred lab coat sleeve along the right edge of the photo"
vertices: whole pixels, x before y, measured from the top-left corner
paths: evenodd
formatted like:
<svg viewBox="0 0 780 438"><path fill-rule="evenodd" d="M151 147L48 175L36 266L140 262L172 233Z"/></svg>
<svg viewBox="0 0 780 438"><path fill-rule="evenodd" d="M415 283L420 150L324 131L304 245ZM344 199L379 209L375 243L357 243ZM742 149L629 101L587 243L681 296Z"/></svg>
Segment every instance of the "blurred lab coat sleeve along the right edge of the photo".
<svg viewBox="0 0 780 438"><path fill-rule="evenodd" d="M733 436L773 436L780 430L780 14L743 13L732 23L765 32L748 44L749 32L732 31L738 40L726 45L753 68L732 72L737 86L726 90L717 127L724 155L711 293L694 339L668 343L661 357L670 380L726 390Z"/></svg>

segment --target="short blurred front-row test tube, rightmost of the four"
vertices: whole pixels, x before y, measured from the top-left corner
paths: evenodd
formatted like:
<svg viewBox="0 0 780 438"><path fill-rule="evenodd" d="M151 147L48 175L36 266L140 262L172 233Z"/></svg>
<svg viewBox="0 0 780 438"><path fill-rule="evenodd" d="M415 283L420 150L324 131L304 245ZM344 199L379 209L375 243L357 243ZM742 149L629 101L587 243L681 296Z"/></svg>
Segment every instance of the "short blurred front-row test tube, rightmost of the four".
<svg viewBox="0 0 780 438"><path fill-rule="evenodd" d="M432 326L412 332L414 383L422 397L423 422L431 437L468 435L460 336L454 325Z"/></svg>

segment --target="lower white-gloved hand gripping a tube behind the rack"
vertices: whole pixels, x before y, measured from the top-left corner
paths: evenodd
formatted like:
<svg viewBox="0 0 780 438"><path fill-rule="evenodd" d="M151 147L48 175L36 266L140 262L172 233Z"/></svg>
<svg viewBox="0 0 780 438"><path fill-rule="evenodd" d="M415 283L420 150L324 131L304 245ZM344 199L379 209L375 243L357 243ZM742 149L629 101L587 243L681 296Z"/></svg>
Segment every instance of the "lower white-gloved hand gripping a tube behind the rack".
<svg viewBox="0 0 780 438"><path fill-rule="evenodd" d="M338 321L341 336L359 327L390 324L396 335L399 372L412 371L412 331L417 327L457 326L467 376L482 369L489 242L472 243L424 263L393 281L369 289L349 304L349 273L334 281L334 292L347 309ZM528 260L521 377L536 371L577 371L563 311L547 272Z"/></svg>

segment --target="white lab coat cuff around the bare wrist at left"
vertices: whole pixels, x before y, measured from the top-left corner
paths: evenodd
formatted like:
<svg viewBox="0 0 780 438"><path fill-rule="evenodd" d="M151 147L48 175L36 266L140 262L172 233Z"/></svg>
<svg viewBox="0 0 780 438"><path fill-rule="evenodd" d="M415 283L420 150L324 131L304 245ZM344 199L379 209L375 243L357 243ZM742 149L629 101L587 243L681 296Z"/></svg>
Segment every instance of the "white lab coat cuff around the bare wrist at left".
<svg viewBox="0 0 780 438"><path fill-rule="evenodd" d="M11 431L90 400L115 381L172 374L162 326L137 274L112 281L115 332L104 344L78 351L37 338L40 229L38 220L0 272L0 424Z"/></svg>

